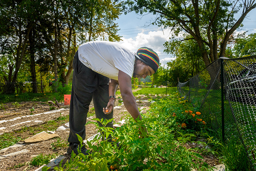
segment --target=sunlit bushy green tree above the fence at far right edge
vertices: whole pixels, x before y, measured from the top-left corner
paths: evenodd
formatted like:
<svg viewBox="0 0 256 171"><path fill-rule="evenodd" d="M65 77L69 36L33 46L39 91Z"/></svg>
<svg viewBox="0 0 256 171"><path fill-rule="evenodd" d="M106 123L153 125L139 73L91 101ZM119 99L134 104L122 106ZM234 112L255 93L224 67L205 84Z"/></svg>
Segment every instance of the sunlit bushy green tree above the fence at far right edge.
<svg viewBox="0 0 256 171"><path fill-rule="evenodd" d="M239 57L256 55L256 33L239 35L234 45L234 54Z"/></svg>

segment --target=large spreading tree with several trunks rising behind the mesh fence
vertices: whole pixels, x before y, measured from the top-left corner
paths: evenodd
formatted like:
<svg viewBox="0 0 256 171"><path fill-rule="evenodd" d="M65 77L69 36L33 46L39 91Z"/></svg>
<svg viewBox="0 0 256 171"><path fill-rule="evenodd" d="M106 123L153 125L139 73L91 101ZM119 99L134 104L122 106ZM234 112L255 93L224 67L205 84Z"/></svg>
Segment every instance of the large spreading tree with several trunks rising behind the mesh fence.
<svg viewBox="0 0 256 171"><path fill-rule="evenodd" d="M154 23L171 27L173 34L185 32L184 37L194 39L200 49L205 66L218 56L225 56L227 42L231 34L241 26L245 16L256 7L254 0L131 0L127 1L129 10L137 13L157 14ZM241 9L241 16L234 19ZM153 24L154 24L153 23ZM218 51L218 39L221 39Z"/></svg>

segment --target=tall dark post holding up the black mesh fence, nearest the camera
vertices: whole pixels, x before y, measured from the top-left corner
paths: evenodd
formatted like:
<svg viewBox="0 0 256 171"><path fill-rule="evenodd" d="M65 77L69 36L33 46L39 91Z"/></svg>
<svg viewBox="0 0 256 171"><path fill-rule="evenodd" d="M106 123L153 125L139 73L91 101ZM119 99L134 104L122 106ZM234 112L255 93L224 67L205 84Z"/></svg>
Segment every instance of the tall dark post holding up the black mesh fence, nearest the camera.
<svg viewBox="0 0 256 171"><path fill-rule="evenodd" d="M222 122L222 139L223 139L223 142L225 142L223 58L221 58L221 122Z"/></svg>

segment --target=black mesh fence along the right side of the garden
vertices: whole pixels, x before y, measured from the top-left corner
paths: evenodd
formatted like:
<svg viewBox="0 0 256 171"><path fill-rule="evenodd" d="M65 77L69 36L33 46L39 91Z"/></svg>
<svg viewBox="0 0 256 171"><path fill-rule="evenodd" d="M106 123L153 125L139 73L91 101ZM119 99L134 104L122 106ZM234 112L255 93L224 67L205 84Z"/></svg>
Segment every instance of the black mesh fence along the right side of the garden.
<svg viewBox="0 0 256 171"><path fill-rule="evenodd" d="M219 58L177 88L223 140L237 139L244 146L256 170L256 55Z"/></svg>

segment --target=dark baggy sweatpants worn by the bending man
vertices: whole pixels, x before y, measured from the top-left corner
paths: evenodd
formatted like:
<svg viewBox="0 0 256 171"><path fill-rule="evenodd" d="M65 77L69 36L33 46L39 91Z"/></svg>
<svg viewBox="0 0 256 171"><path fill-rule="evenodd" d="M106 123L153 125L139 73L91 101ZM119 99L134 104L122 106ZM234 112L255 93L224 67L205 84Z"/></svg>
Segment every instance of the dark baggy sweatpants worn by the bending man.
<svg viewBox="0 0 256 171"><path fill-rule="evenodd" d="M108 84L110 79L83 65L77 52L73 59L73 70L68 142L79 143L76 134L79 134L83 140L85 139L85 124L92 99L97 118L112 119L113 111L108 115L102 111L109 102ZM99 125L102 126L100 123ZM113 121L107 126L113 128Z"/></svg>

